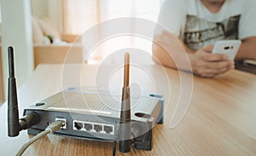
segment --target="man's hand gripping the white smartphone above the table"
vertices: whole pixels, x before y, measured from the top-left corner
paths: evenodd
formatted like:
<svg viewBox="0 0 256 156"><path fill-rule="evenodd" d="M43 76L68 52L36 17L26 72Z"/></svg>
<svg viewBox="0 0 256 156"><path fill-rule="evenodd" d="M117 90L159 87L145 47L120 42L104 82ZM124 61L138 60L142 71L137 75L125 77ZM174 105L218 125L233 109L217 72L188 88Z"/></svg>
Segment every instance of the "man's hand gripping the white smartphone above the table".
<svg viewBox="0 0 256 156"><path fill-rule="evenodd" d="M213 45L209 45L189 55L195 75L212 78L235 67L234 61L227 60L227 55L211 54L212 48Z"/></svg>

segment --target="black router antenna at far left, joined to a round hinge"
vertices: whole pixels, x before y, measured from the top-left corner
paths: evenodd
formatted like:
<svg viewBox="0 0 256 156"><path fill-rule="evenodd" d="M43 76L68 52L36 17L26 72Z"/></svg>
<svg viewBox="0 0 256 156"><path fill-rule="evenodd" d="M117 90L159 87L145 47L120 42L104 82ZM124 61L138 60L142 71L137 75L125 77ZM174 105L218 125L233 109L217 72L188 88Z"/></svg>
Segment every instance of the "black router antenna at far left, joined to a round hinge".
<svg viewBox="0 0 256 156"><path fill-rule="evenodd" d="M8 84L8 136L18 136L20 132L19 110L15 80L14 49L8 48L9 84Z"/></svg>

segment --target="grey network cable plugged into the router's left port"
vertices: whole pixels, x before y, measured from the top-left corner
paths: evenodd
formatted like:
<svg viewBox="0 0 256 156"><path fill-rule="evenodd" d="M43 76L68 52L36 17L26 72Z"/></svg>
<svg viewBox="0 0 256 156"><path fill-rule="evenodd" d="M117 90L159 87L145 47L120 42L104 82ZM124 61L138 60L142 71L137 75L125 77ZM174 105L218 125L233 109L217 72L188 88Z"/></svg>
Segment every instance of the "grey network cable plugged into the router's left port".
<svg viewBox="0 0 256 156"><path fill-rule="evenodd" d="M37 136L32 137L31 140L29 140L22 147L20 147L20 150L18 151L18 153L16 153L16 156L21 156L22 153L24 153L26 151L26 148L29 147L30 145L32 145L33 142L38 141L38 139L40 139L43 136L48 135L49 133L53 133L56 130L60 130L62 126L64 126L64 124L61 121L56 121L52 124L49 124L49 126L44 131L39 133Z"/></svg>

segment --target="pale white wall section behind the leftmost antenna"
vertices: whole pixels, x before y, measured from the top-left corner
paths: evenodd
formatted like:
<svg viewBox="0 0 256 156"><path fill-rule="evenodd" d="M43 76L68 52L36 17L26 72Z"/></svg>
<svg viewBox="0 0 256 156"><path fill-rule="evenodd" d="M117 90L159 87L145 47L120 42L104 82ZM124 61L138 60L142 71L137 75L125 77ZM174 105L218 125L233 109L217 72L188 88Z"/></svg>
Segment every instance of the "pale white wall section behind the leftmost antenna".
<svg viewBox="0 0 256 156"><path fill-rule="evenodd" d="M8 54L11 45L15 49L15 75L18 86L33 71L32 24L30 0L1 0L3 82L7 97Z"/></svg>

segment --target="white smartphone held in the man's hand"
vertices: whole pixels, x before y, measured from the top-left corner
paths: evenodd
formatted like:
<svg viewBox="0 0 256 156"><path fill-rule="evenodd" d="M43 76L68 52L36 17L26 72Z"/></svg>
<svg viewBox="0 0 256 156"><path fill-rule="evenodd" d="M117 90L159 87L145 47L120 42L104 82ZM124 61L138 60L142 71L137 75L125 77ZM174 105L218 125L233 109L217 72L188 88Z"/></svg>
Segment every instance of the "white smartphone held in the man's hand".
<svg viewBox="0 0 256 156"><path fill-rule="evenodd" d="M214 44L212 54L227 55L229 60L234 60L240 45L240 40L220 40Z"/></svg>

